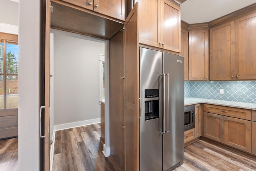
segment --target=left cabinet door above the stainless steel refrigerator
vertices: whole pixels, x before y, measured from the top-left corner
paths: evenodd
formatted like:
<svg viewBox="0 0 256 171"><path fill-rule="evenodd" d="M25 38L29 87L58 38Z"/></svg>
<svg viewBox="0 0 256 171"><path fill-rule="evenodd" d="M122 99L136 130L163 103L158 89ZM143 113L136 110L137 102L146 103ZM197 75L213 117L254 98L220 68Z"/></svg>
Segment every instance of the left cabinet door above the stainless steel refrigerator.
<svg viewBox="0 0 256 171"><path fill-rule="evenodd" d="M140 0L139 42L161 48L161 0Z"/></svg>

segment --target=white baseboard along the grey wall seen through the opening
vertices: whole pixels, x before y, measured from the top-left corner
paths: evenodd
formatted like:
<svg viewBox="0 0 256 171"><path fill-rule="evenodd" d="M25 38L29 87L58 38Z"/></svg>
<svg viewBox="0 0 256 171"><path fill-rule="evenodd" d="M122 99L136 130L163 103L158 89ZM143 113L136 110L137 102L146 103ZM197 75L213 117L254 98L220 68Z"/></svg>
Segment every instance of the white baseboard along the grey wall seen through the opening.
<svg viewBox="0 0 256 171"><path fill-rule="evenodd" d="M69 129L69 128L73 128L73 127L80 127L80 126L84 126L84 125L92 125L95 123L100 123L100 118L90 119L90 120L86 120L86 121L64 123L64 124L60 124L60 125L54 125L54 131L59 131L62 129Z"/></svg>

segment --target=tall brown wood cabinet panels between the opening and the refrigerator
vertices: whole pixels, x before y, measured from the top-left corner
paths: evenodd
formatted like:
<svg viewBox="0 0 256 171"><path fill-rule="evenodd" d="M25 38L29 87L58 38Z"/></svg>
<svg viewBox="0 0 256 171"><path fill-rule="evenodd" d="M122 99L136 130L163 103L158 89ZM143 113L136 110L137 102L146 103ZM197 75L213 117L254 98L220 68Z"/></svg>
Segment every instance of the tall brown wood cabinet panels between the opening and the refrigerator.
<svg viewBox="0 0 256 171"><path fill-rule="evenodd" d="M123 32L110 39L110 157L119 170L139 170L139 44L137 4Z"/></svg>

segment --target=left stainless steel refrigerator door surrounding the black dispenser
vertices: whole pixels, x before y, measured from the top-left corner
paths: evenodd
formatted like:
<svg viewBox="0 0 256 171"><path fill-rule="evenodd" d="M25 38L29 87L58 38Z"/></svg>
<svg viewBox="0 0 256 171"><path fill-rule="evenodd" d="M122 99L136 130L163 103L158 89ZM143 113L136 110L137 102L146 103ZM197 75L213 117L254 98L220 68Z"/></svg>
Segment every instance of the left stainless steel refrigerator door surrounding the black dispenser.
<svg viewBox="0 0 256 171"><path fill-rule="evenodd" d="M154 96L145 99L145 89L159 89L160 94L161 73L162 52L140 48L140 171L162 170L162 112L159 118L145 121L145 101L160 101Z"/></svg>

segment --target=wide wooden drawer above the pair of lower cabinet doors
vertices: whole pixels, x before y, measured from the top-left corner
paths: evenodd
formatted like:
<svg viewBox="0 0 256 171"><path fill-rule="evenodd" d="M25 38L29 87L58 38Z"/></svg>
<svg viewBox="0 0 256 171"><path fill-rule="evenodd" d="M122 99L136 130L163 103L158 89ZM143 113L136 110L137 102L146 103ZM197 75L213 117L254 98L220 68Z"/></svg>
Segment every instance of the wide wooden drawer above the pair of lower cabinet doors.
<svg viewBox="0 0 256 171"><path fill-rule="evenodd" d="M234 107L204 104L204 111L209 113L216 113L224 116L251 120L251 111L246 109L238 109Z"/></svg>

